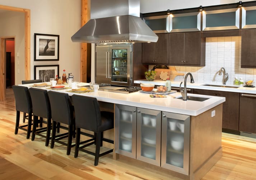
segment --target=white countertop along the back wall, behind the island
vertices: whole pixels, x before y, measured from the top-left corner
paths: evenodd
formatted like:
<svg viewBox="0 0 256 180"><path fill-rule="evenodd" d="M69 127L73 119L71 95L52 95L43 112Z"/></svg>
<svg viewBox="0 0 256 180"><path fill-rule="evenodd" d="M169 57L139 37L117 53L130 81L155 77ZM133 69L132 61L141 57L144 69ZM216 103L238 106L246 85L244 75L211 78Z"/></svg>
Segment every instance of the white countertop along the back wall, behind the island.
<svg viewBox="0 0 256 180"><path fill-rule="evenodd" d="M161 81L161 80L147 81L146 79L142 79L142 80L135 80L134 83L135 84L153 83L155 85L165 86L166 81ZM179 82L179 81L171 81L171 85L173 87L180 87L180 83L181 82ZM223 84L213 84L213 83L190 83L190 78L187 79L187 88L256 94L256 87L243 87L243 86L236 86L238 88L214 87L214 86L203 86L204 84L223 85ZM182 83L181 86L184 87L184 82ZM235 86L235 85L227 84L227 86Z"/></svg>

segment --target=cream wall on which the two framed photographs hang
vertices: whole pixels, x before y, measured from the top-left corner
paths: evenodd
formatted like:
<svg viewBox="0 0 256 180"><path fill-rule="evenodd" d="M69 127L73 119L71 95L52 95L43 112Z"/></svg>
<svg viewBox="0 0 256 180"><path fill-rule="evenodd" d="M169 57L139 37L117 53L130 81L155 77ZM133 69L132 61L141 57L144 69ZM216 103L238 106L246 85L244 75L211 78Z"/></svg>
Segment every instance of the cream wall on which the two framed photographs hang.
<svg viewBox="0 0 256 180"><path fill-rule="evenodd" d="M80 29L80 0L0 0L0 4L31 10L31 79L34 65L59 64L60 75L65 69L80 81L80 43L71 41ZM59 61L34 61L34 33L60 35Z"/></svg>

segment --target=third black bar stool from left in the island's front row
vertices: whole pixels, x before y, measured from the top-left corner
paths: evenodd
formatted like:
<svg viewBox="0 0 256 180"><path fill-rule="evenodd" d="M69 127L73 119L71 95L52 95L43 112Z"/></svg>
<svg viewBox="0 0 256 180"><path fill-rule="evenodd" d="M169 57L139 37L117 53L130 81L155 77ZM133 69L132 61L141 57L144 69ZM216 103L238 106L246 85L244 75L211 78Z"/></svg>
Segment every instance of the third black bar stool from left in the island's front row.
<svg viewBox="0 0 256 180"><path fill-rule="evenodd" d="M74 107L71 104L69 95L66 93L48 91L48 96L51 103L51 112L52 112L52 139L51 139L51 148L54 147L54 142L58 142L67 147L67 155L70 154L72 145L72 135L75 137L75 116L74 116ZM60 122L68 125L67 127L59 126L61 129L68 130L67 133L56 135L56 123ZM68 143L60 141L68 137Z"/></svg>

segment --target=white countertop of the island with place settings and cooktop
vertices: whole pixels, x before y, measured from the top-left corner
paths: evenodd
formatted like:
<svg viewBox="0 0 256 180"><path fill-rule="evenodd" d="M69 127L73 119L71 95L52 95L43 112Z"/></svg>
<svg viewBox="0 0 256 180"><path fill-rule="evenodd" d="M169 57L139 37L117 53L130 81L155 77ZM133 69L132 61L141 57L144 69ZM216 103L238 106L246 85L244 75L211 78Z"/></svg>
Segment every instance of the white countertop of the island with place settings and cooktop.
<svg viewBox="0 0 256 180"><path fill-rule="evenodd" d="M50 82L48 82L50 84ZM33 84L24 84L23 86L31 87ZM89 85L89 83L82 83L81 85ZM36 87L40 89L48 89L48 87ZM74 92L67 92L70 89L65 90L54 90L58 92L68 93L70 96L77 94ZM166 95L167 97L150 97L147 93L141 92L132 92L130 94L122 94L118 92L106 92L106 91L97 91L97 92L86 92L80 93L81 96L90 96L96 97L98 101L111 102L115 104L122 104L128 106L142 107L146 109L154 109L159 111L167 111L178 114L192 115L197 116L225 101L225 97L218 96L206 96L206 95L194 95L188 94L191 96L200 96L200 97L210 97L210 99L205 101L183 101L182 99L176 99L173 97L180 97L180 93L174 93Z"/></svg>

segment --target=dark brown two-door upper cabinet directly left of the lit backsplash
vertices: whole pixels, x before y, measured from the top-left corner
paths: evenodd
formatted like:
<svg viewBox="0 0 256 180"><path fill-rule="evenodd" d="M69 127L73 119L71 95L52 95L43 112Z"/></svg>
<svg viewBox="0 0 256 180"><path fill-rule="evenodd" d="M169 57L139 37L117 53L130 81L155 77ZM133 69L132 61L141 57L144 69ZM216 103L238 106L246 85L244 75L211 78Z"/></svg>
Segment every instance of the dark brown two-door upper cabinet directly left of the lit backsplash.
<svg viewBox="0 0 256 180"><path fill-rule="evenodd" d="M205 66L205 38L201 32L170 34L169 65Z"/></svg>

